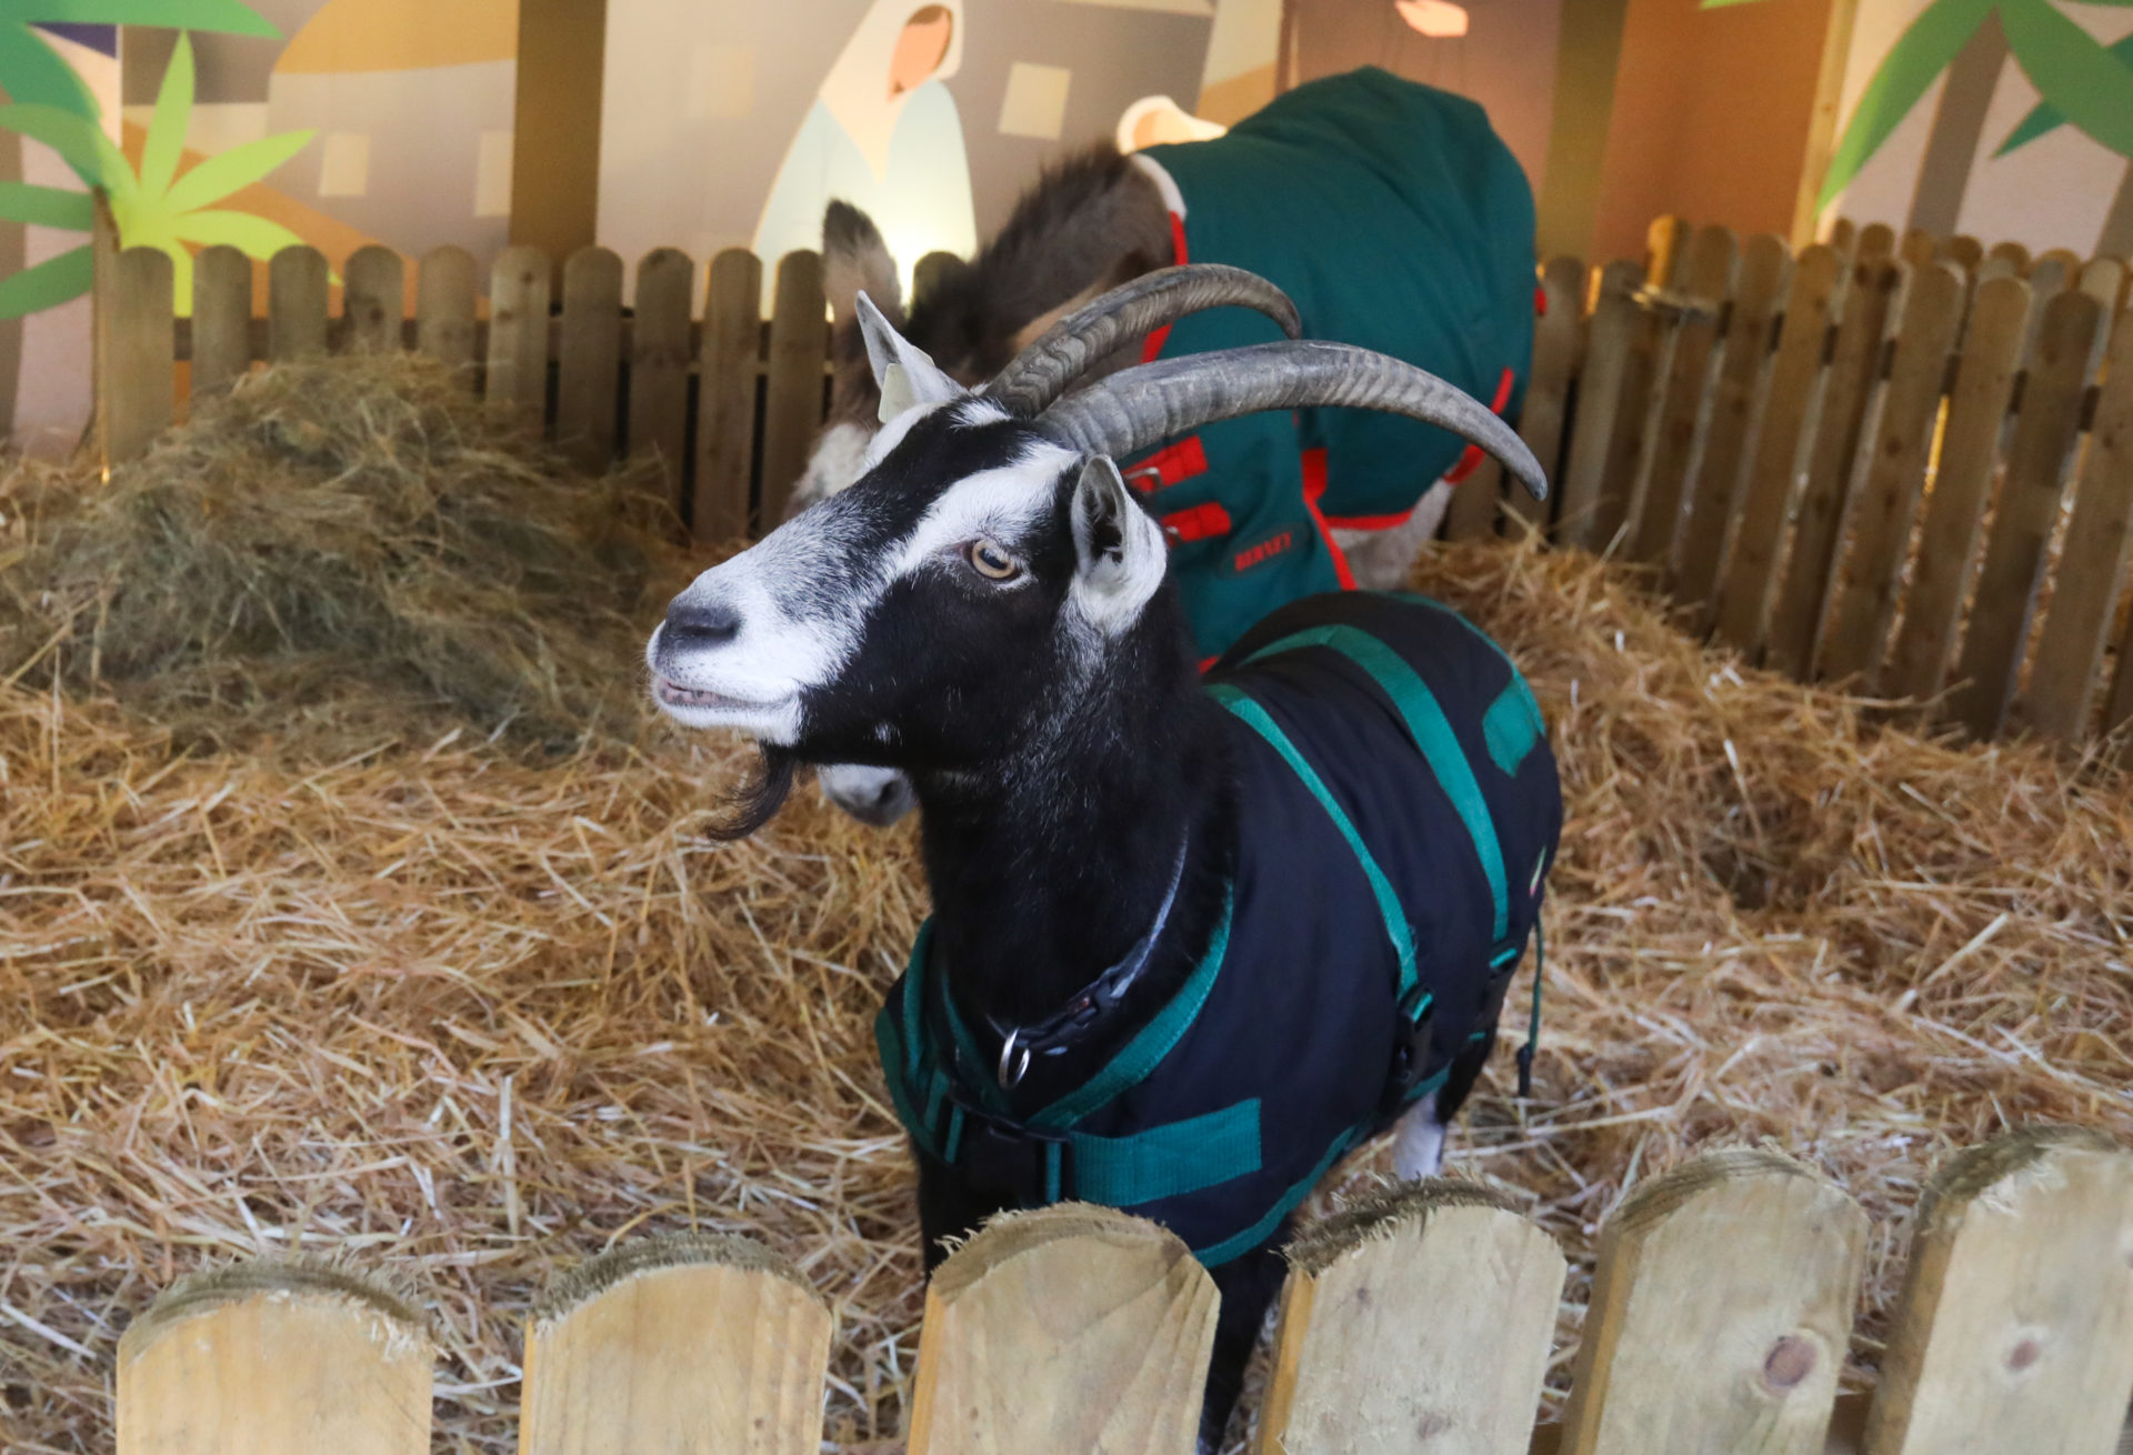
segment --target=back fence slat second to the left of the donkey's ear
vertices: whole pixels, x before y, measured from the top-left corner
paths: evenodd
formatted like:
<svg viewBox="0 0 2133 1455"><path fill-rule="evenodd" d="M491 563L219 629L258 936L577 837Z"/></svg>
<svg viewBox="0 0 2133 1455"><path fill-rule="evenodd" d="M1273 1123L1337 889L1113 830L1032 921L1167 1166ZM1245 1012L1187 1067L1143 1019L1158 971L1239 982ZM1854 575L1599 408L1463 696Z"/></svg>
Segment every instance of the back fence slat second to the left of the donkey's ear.
<svg viewBox="0 0 2133 1455"><path fill-rule="evenodd" d="M697 540L725 542L749 533L761 301L764 265L753 252L727 247L710 260L695 405L695 506L689 516Z"/></svg>

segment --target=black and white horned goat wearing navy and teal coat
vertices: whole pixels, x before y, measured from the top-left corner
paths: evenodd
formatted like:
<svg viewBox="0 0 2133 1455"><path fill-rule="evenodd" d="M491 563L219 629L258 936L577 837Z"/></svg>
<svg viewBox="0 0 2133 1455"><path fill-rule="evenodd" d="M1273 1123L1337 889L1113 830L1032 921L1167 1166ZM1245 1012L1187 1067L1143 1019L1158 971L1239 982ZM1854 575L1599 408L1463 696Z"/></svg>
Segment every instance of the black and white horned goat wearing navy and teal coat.
<svg viewBox="0 0 2133 1455"><path fill-rule="evenodd" d="M1207 282L1141 279L977 393L862 301L896 405L862 478L704 572L646 657L665 713L761 747L732 834L776 813L796 764L909 774L934 917L879 1037L928 1267L992 1212L1060 1197L1169 1225L1222 1293L1212 1446L1312 1184L1395 1122L1399 1171L1436 1171L1561 800L1523 681L1442 606L1308 597L1201 678L1113 459L1250 410L1354 405L1542 484L1487 407L1337 343L1064 393Z"/></svg>

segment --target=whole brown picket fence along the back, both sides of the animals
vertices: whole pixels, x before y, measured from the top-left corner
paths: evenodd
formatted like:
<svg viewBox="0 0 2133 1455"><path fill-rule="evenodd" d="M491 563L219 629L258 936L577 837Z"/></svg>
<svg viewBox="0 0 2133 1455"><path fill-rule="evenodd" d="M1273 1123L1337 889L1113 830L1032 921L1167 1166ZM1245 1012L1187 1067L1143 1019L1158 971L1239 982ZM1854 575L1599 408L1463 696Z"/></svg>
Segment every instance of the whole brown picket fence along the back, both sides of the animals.
<svg viewBox="0 0 2133 1455"><path fill-rule="evenodd" d="M561 271L529 247L414 267L380 247L346 265L292 247L252 316L245 258L209 247L192 316L171 267L115 252L98 273L98 399L111 463L192 397L256 361L412 348L467 371L589 469L653 459L697 538L783 518L823 418L821 258L706 267L661 247L631 271L587 247ZM924 286L926 269L921 269ZM1711 631L1798 678L1932 700L1975 736L2065 740L2133 717L2133 326L2127 267L2011 243L1839 226L1796 258L1777 237L1653 224L1647 262L1542 267L1546 311L1519 429L1555 503L1497 508L1489 469L1453 535L1512 514L1653 572ZM2041 614L2041 627L2039 627Z"/></svg>

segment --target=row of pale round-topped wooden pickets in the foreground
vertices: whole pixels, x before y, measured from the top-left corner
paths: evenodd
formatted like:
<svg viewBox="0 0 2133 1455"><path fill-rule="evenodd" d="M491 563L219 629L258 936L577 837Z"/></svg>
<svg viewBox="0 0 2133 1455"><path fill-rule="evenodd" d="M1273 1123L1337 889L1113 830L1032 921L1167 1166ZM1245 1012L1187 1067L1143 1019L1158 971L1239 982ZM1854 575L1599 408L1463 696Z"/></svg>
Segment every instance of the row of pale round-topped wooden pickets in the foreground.
<svg viewBox="0 0 2133 1455"><path fill-rule="evenodd" d="M1762 1150L1636 1188L1600 1235L1561 1425L1534 1427L1563 1254L1468 1182L1290 1246L1263 1455L2110 1455L2133 1395L2133 1156L2073 1129L1954 1156L1871 1397L1839 1400L1866 1214ZM926 1291L909 1455L1186 1455L1216 1289L1152 1222L990 1225ZM525 1327L523 1455L813 1455L836 1318L725 1235L625 1242ZM119 1342L119 1455L427 1455L424 1321L346 1269L179 1284ZM501 1432L497 1432L501 1436Z"/></svg>

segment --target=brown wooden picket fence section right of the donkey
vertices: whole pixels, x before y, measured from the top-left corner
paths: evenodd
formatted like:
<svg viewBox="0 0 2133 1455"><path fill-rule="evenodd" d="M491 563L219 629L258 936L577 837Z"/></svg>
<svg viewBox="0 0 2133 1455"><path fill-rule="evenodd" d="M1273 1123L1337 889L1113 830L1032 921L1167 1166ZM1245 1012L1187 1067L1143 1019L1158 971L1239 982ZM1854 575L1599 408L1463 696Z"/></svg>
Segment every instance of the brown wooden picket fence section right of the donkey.
<svg viewBox="0 0 2133 1455"><path fill-rule="evenodd" d="M1662 218L1642 265L1553 258L1542 290L1521 433L1557 497L1504 510L1762 666L1977 738L2133 717L2124 260L1849 224L1794 258ZM1476 484L1455 538L1497 529Z"/></svg>

